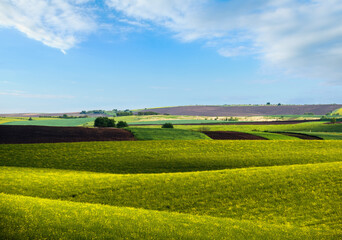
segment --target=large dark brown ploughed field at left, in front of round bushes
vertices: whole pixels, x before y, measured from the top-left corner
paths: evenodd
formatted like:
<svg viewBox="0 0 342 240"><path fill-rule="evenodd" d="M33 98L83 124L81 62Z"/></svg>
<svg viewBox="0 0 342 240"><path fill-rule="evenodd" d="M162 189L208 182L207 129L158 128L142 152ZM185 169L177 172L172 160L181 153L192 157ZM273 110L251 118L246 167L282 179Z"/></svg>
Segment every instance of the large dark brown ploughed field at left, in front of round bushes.
<svg viewBox="0 0 342 240"><path fill-rule="evenodd" d="M132 140L131 132L117 128L0 125L0 144Z"/></svg>

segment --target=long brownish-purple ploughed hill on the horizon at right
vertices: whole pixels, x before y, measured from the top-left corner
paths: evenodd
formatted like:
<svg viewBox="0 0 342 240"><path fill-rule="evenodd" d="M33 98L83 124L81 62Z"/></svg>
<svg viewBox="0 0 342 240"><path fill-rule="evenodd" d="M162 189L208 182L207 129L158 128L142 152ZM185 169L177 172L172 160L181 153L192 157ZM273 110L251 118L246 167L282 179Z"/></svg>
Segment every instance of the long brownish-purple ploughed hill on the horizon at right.
<svg viewBox="0 0 342 240"><path fill-rule="evenodd" d="M159 114L189 115L189 116L268 116L268 115L325 115L336 109L342 108L342 104L320 105L251 105L251 106L181 106L167 108L150 108L145 111L153 111Z"/></svg>

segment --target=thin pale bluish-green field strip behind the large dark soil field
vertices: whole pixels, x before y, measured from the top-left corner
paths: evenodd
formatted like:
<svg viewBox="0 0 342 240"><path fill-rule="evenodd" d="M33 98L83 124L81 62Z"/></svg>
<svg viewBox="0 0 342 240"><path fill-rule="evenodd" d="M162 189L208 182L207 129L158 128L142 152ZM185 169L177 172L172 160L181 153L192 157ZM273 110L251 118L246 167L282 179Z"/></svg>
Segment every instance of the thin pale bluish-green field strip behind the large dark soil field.
<svg viewBox="0 0 342 240"><path fill-rule="evenodd" d="M32 120L32 121L15 121L6 122L4 125L36 125L36 126L58 126L58 127L76 127L82 126L88 122L94 122L95 118L70 118L70 119L44 119Z"/></svg>

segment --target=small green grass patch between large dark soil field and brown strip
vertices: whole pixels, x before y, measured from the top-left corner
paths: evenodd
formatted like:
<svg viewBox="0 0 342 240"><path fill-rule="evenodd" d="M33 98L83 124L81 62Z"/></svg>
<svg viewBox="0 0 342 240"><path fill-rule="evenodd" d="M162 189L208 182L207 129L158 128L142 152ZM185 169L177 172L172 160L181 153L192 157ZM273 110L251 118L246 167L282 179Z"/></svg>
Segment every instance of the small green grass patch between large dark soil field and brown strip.
<svg viewBox="0 0 342 240"><path fill-rule="evenodd" d="M207 135L183 130L183 129L169 129L169 128L127 128L131 131L138 140L210 140Z"/></svg>

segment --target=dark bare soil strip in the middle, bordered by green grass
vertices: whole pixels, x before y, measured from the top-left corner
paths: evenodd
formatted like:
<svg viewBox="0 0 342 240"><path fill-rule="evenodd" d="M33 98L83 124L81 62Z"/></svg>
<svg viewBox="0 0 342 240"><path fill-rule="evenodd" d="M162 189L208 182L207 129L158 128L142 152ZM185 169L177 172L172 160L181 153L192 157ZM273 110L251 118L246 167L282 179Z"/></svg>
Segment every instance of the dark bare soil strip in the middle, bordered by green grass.
<svg viewBox="0 0 342 240"><path fill-rule="evenodd" d="M267 140L266 138L243 132L204 131L203 133L214 140Z"/></svg>

